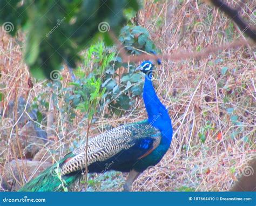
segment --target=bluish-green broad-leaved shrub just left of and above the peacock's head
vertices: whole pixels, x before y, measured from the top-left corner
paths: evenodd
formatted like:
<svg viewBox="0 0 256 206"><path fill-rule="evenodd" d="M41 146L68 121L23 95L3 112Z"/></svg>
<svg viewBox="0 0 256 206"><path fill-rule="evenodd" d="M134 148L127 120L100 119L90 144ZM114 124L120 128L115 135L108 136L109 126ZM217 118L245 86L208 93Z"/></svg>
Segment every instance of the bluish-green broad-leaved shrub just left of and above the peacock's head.
<svg viewBox="0 0 256 206"><path fill-rule="evenodd" d="M119 40L129 54L155 50L149 32L142 26L124 26ZM110 111L120 115L135 103L133 97L142 94L144 77L142 73L134 73L134 64L123 63L120 57L114 60L112 67L107 68L103 75L102 87L106 88L106 93L102 106L107 104ZM125 71L120 72L120 68L125 68Z"/></svg>

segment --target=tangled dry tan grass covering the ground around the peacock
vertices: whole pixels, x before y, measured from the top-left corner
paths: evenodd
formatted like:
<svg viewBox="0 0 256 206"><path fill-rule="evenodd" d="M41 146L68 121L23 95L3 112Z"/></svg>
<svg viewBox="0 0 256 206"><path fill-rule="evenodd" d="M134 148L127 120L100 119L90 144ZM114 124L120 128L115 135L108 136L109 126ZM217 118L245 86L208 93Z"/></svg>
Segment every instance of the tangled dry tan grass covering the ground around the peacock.
<svg viewBox="0 0 256 206"><path fill-rule="evenodd" d="M205 3L166 2L144 1L146 9L139 12L139 24L150 31L153 41L163 54L183 49L196 51L208 45L223 45L244 39L237 28L228 34L231 20ZM238 3L228 2L233 6ZM255 21L252 17L255 6L254 1L248 1L240 10L241 16L250 22ZM209 18L212 19L208 20ZM194 25L195 22L198 24ZM203 28L202 31L198 26ZM7 85L1 88L6 97L2 108L5 109L10 100L17 102L20 95L31 101L39 92L49 92L41 82L33 81L32 89L28 86L29 72L21 63L24 35L10 38L2 32L0 39L1 81ZM239 49L213 53L201 60L163 62L157 70L157 80L154 83L161 101L170 111L174 128L172 145L157 166L139 176L133 184L133 190L225 191L231 187L246 162L256 155L256 70L253 51L255 46L246 45ZM221 62L217 63L217 59L221 59ZM223 67L228 68L226 75L221 74ZM64 85L69 81L69 75L63 72ZM220 87L221 82L223 86ZM225 97L229 99L226 103ZM60 99L59 107L63 103L63 99ZM242 129L235 136L232 133L239 126L232 122L231 115L226 111L228 107L234 108L233 114L241 122ZM79 114L72 124L68 121L60 122L61 114L57 109L54 112L55 125L58 127L51 139L51 149L60 150L61 156L64 154L64 145L70 147L77 134L84 136L86 123L81 124L82 115ZM145 119L146 113L142 99L138 99L136 108L122 118L105 119L103 116L104 113L98 116L90 135L104 132L105 125L115 127L120 123ZM12 123L16 121L14 119ZM213 129L207 129L206 125ZM43 128L46 129L45 126ZM199 138L203 128L206 135L204 143ZM18 127L10 133L17 134ZM8 138L0 141L0 147L3 148L0 152L0 174L6 163L17 159L13 143L10 141L8 144L10 133Z"/></svg>

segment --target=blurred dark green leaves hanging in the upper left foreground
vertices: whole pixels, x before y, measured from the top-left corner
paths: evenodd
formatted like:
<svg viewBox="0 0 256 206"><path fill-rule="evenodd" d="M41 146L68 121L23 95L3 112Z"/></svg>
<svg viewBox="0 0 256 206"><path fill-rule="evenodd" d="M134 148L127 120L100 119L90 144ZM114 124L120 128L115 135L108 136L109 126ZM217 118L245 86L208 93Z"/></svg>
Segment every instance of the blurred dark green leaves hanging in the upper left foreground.
<svg viewBox="0 0 256 206"><path fill-rule="evenodd" d="M3 0L0 8L4 8L0 24L11 24L10 35L19 28L28 31L24 58L31 73L50 78L63 62L75 68L79 52L99 36L111 43L107 31L118 32L125 21L122 11L137 12L138 4L136 0Z"/></svg>

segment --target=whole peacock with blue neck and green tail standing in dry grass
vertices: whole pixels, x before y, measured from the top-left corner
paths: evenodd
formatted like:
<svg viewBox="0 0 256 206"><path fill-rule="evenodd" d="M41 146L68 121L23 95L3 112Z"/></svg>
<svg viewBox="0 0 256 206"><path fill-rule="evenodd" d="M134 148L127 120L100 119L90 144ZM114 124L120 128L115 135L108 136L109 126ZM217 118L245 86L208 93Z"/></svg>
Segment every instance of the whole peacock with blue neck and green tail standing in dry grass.
<svg viewBox="0 0 256 206"><path fill-rule="evenodd" d="M136 178L165 155L172 141L172 123L167 109L157 97L152 84L151 61L140 64L136 71L145 73L143 100L148 119L128 123L90 138L65 155L19 191L63 191L85 173L104 173L107 170L129 173L124 191L130 191ZM107 167L106 167L107 166Z"/></svg>

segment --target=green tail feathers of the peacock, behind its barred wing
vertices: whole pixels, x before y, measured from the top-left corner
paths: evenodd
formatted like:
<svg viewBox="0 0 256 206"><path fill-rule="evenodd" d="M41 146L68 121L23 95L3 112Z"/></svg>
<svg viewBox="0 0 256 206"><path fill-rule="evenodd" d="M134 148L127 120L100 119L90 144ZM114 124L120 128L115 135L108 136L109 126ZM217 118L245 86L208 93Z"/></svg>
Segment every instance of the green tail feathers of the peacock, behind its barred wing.
<svg viewBox="0 0 256 206"><path fill-rule="evenodd" d="M61 177L58 171L58 165L62 164L66 159L72 157L73 154L69 153L58 163L53 164L48 169L44 170L36 178L26 183L18 191L65 191L66 187L69 187L74 183L81 173L72 174L69 176Z"/></svg>

